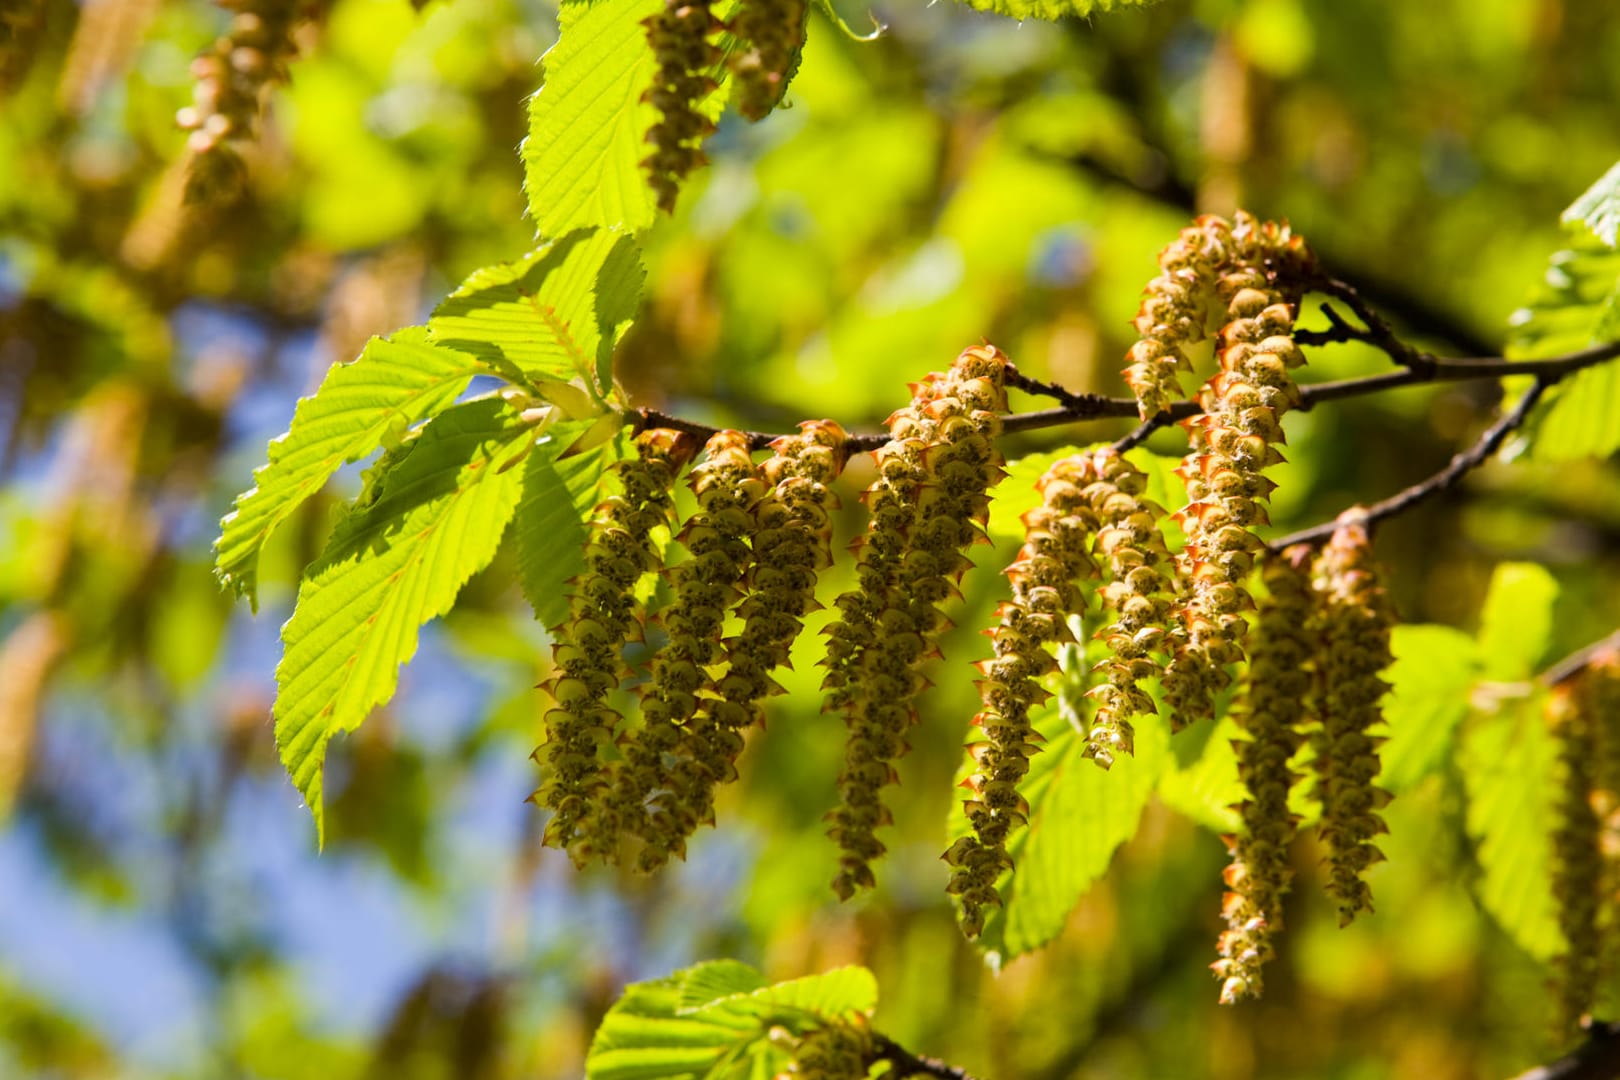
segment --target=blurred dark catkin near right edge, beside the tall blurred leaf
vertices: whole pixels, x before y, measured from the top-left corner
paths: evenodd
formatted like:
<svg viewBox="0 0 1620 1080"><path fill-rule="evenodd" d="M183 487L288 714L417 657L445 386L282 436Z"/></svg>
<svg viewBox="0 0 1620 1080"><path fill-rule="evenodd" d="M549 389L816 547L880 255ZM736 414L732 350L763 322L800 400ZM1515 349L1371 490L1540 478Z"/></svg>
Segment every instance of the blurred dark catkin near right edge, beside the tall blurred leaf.
<svg viewBox="0 0 1620 1080"><path fill-rule="evenodd" d="M1597 717L1586 674L1554 687L1547 729L1558 746L1554 792L1552 895L1565 952L1558 957L1558 1031L1573 1035L1597 999L1602 933L1599 929L1604 865L1602 826L1592 806L1597 764Z"/></svg>

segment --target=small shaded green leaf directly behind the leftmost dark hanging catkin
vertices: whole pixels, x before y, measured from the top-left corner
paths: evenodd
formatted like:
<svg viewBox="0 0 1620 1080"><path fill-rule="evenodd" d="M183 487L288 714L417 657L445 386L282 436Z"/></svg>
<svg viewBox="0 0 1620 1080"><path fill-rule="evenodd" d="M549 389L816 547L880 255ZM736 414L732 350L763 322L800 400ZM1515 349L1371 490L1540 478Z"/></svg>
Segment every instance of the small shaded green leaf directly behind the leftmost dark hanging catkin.
<svg viewBox="0 0 1620 1080"><path fill-rule="evenodd" d="M590 423L557 424L551 434L567 447ZM625 436L599 447L557 458L531 453L523 463L523 499L512 518L518 585L546 627L569 617L567 581L585 570L585 539L591 512L608 497L609 466L630 453Z"/></svg>

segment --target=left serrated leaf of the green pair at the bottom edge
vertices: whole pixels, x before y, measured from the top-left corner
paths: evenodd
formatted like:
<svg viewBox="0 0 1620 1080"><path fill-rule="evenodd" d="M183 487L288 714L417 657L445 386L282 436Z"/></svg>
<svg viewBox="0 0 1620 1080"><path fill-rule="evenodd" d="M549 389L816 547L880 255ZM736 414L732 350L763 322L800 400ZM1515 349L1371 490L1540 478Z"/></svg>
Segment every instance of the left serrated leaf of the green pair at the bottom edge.
<svg viewBox="0 0 1620 1080"><path fill-rule="evenodd" d="M757 1057L787 1064L758 1017L723 1009L680 1015L688 973L625 988L591 1038L588 1080L742 1080L757 1072Z"/></svg>

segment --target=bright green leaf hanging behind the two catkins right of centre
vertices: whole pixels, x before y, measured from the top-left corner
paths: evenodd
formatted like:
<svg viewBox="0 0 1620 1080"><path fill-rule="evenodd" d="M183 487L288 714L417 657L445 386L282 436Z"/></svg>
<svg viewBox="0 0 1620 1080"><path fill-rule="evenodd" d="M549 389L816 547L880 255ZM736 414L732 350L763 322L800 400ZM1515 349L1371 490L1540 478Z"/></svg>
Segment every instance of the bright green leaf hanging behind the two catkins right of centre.
<svg viewBox="0 0 1620 1080"><path fill-rule="evenodd" d="M1106 771L1084 756L1085 738L1064 716L1061 695L1032 711L1030 719L1047 748L1030 759L1021 785L1029 824L1008 842L1014 870L1001 881L1003 907L991 912L978 938L980 947L1001 962L1063 931L1074 905L1136 834L1170 763L1170 732L1157 716L1137 717L1136 756L1121 756Z"/></svg>

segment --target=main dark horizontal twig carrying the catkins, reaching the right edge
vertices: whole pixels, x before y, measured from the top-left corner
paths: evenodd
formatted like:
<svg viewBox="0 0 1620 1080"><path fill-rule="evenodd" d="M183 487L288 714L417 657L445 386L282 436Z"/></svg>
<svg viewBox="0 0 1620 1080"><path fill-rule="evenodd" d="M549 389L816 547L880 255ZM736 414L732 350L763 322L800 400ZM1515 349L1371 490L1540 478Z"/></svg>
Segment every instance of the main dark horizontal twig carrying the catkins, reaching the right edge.
<svg viewBox="0 0 1620 1080"><path fill-rule="evenodd" d="M1341 379L1338 382L1317 382L1299 389L1301 405L1299 408L1311 408L1320 402L1364 397L1369 393L1380 393L1383 390L1393 390L1396 387L1422 385L1427 382L1468 382L1471 379L1507 379L1511 376L1537 376L1545 385L1552 385L1558 379L1568 374L1581 371L1583 368L1592 368L1596 364L1605 363L1620 356L1620 342L1609 342L1605 345L1594 345L1591 348L1583 348L1565 356L1554 356L1550 359L1523 359L1510 361L1500 356L1469 356L1461 359L1434 359L1432 364L1424 364L1419 368L1401 368L1400 371L1387 371L1377 376L1366 376L1361 379ZM1024 382L1027 381L1021 376ZM1038 431L1043 427L1059 427L1064 424L1074 424L1081 421L1105 419L1105 418L1124 418L1136 416L1137 405L1136 398L1113 398L1100 397L1094 393L1068 393L1072 403L1059 405L1058 408L1037 410L1030 413L1013 413L1003 419L1001 429L1006 432L1016 431ZM1196 400L1176 402L1166 413L1170 421L1186 419L1187 416L1197 416L1202 408ZM1153 418L1147 421L1150 424L1163 426L1166 421ZM680 419L679 416L671 416L658 410L645 408L642 410L642 427L672 427L676 431L692 432L701 439L708 439L719 427L710 424L698 424L688 419ZM763 450L771 444L773 439L779 439L781 434L750 431L744 432L748 436L748 445L755 450ZM1147 436L1137 436L1132 432L1126 436L1126 445L1136 445L1140 439ZM1134 442L1131 442L1134 439ZM850 436L849 450L876 450L889 437L885 432L875 434L859 434Z"/></svg>

